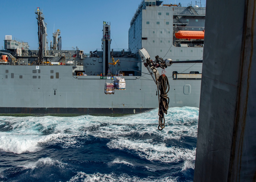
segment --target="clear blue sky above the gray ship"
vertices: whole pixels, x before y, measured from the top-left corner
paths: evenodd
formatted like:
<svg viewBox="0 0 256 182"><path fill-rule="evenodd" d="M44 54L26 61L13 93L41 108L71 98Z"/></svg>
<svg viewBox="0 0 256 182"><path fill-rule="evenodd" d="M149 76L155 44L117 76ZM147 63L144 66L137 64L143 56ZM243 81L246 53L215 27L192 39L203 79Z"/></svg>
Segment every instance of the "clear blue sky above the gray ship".
<svg viewBox="0 0 256 182"><path fill-rule="evenodd" d="M200 2L200 1L199 1ZM141 0L16 0L1 1L0 49L4 46L5 35L12 35L28 42L32 49L38 47L37 19L35 9L40 7L47 23L47 39L52 40L52 33L60 29L62 49L78 47L89 53L101 48L103 21L111 22L111 48L128 48L128 30L130 21ZM187 0L164 0L164 4L188 4ZM196 4L195 1L192 1ZM198 3L198 1L197 1ZM206 4L202 0L201 4Z"/></svg>

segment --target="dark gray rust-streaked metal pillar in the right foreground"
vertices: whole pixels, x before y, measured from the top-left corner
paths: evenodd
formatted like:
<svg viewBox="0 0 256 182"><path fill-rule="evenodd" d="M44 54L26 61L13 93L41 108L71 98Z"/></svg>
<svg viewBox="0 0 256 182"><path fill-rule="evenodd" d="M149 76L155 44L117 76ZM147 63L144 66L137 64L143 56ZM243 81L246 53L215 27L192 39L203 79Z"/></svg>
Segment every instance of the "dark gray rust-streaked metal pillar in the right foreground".
<svg viewBox="0 0 256 182"><path fill-rule="evenodd" d="M256 6L207 0L194 181L256 181Z"/></svg>

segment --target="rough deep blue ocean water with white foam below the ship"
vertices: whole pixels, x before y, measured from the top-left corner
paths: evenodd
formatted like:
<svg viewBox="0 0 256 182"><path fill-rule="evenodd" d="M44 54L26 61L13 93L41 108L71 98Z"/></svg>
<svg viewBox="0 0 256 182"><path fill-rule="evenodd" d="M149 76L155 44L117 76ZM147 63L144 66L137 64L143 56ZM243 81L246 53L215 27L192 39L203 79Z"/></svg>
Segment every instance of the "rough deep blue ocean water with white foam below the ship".
<svg viewBox="0 0 256 182"><path fill-rule="evenodd" d="M0 116L0 181L193 181L198 112Z"/></svg>

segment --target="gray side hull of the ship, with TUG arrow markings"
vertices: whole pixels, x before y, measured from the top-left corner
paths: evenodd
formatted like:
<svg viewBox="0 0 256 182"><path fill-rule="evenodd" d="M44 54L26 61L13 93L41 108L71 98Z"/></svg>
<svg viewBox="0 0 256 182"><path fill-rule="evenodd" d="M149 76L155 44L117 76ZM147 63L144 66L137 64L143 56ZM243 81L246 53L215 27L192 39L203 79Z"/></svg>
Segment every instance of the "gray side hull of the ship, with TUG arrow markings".
<svg viewBox="0 0 256 182"><path fill-rule="evenodd" d="M173 66L168 73L185 68L200 71L202 64L196 65ZM0 113L133 114L158 108L157 86L150 75L124 76L125 90L105 94L105 82L113 80L74 76L73 68L1 65ZM200 80L173 80L171 74L167 76L169 107L199 107Z"/></svg>

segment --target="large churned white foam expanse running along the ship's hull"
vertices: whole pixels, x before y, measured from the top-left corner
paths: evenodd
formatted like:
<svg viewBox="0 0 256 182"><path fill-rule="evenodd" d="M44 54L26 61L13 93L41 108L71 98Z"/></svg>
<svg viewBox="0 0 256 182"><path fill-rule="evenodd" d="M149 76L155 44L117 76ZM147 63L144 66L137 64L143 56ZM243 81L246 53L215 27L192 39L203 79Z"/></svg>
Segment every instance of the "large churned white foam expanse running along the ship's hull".
<svg viewBox="0 0 256 182"><path fill-rule="evenodd" d="M198 108L170 108L166 127L158 131L158 110L125 117L10 117L1 116L0 125L10 128L0 132L0 150L13 153L36 152L42 144L59 143L63 148L79 147L77 136L94 136L111 139L110 148L135 150L148 160L190 160L194 150L168 148L164 140L197 136ZM134 138L134 136L136 136ZM140 140L137 139L139 136ZM158 143L150 140L157 137ZM173 160L175 158L175 160Z"/></svg>

